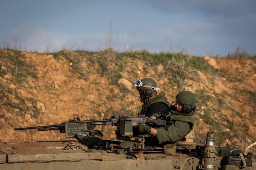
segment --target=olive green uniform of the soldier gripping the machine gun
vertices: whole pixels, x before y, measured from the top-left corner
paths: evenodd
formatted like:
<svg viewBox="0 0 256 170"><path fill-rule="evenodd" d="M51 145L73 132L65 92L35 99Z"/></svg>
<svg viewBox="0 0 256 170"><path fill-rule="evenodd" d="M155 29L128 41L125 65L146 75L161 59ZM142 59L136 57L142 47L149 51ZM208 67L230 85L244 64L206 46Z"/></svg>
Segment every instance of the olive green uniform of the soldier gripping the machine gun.
<svg viewBox="0 0 256 170"><path fill-rule="evenodd" d="M173 107L171 107L171 109L173 109ZM149 134L138 135L138 137L145 137L145 146L164 146L164 148L172 147L185 137L191 129L193 129L195 122L195 112L185 115L170 110L167 114L156 113L153 115L157 118L164 116L166 119L166 126L156 128L156 137ZM138 143L130 141L123 141L119 145L121 148L136 148L138 146Z"/></svg>

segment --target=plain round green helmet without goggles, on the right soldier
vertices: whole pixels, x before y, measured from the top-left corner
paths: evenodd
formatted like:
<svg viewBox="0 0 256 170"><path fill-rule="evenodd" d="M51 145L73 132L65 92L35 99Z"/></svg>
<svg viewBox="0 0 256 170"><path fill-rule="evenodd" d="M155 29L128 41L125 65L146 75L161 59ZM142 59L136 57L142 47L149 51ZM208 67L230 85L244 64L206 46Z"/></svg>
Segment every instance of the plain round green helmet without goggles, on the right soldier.
<svg viewBox="0 0 256 170"><path fill-rule="evenodd" d="M179 92L176 96L176 100L183 104L183 111L185 114L194 111L196 108L196 96L192 92Z"/></svg>

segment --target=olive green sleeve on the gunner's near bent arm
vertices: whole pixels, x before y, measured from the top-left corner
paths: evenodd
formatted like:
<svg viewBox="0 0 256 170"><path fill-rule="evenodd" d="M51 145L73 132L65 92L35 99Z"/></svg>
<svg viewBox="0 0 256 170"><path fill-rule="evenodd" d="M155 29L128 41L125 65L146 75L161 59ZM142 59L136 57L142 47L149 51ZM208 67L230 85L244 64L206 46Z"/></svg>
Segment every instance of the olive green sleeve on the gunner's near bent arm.
<svg viewBox="0 0 256 170"><path fill-rule="evenodd" d="M190 130L188 122L175 121L167 129L156 128L156 137L159 144L164 142L174 143L186 136Z"/></svg>

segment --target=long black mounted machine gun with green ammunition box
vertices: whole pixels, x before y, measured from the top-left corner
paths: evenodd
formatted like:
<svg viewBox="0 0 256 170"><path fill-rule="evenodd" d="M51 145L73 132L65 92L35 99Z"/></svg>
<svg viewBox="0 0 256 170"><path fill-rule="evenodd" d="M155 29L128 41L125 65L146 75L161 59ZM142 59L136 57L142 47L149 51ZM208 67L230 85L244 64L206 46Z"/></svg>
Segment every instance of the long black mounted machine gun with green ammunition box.
<svg viewBox="0 0 256 170"><path fill-rule="evenodd" d="M126 140L127 137L133 136L133 126L138 126L138 124L155 124L156 126L165 126L165 120L151 119L145 115L138 116L111 116L110 119L100 119L100 120L80 120L79 117L74 119L69 119L68 122L61 122L61 124L54 124L48 126L35 126L26 128L15 128L14 130L27 130L27 129L37 129L37 131L45 130L60 130L60 133L65 133L66 138L75 137L76 134L82 134L86 130L92 130L97 125L112 125L117 126L116 131L117 139Z"/></svg>

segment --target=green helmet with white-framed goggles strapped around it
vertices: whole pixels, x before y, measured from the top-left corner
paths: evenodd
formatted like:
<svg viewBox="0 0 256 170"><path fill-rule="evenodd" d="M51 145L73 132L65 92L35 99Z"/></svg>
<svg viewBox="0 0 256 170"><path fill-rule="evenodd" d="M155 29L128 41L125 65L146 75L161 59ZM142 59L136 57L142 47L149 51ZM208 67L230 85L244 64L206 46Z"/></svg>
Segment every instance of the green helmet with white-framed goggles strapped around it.
<svg viewBox="0 0 256 170"><path fill-rule="evenodd" d="M158 87L152 78L137 78L133 84L138 90L142 90L147 98L156 94Z"/></svg>

